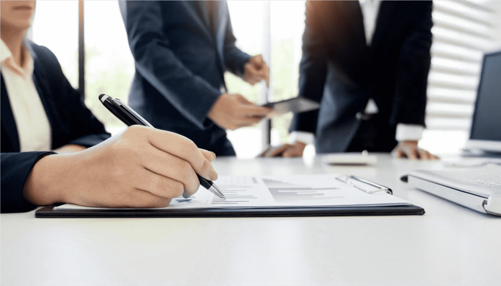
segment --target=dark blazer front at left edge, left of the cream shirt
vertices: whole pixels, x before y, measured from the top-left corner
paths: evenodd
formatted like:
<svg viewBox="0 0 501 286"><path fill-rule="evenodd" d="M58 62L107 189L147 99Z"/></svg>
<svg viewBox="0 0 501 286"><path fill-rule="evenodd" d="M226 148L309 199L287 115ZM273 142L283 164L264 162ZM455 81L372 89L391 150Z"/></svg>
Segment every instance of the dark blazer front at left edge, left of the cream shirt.
<svg viewBox="0 0 501 286"><path fill-rule="evenodd" d="M7 136L10 140L11 146L14 152L20 152L21 147L19 146L19 134L18 128L16 127L16 120L14 119L14 114L11 109L11 102L9 101L9 95L7 94L7 87L5 85L4 76L0 73L0 106L1 106L1 118L2 124L7 131Z"/></svg>

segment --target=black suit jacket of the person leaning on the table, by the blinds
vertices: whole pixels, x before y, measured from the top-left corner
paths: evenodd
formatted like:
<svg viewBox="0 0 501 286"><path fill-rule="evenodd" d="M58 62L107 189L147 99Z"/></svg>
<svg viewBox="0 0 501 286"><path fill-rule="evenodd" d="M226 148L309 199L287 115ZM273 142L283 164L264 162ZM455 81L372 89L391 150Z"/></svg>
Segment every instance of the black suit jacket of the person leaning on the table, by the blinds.
<svg viewBox="0 0 501 286"><path fill-rule="evenodd" d="M424 126L431 8L431 1L383 1L367 47L358 1L308 1L299 96L321 108L296 114L290 131L315 133L318 153L344 152L369 97L379 109L378 140L396 145L398 123Z"/></svg>

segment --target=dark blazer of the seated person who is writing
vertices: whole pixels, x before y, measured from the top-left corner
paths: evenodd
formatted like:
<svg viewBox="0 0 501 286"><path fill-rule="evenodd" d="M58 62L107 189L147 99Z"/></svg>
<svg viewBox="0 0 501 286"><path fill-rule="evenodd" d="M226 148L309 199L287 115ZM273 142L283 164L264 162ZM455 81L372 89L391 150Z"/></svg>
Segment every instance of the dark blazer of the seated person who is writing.
<svg viewBox="0 0 501 286"><path fill-rule="evenodd" d="M52 149L66 144L86 147L110 137L68 82L56 56L46 47L27 42L34 60L33 80L51 125ZM0 212L29 211L36 206L23 198L26 178L35 163L54 152L20 152L19 136L0 76Z"/></svg>

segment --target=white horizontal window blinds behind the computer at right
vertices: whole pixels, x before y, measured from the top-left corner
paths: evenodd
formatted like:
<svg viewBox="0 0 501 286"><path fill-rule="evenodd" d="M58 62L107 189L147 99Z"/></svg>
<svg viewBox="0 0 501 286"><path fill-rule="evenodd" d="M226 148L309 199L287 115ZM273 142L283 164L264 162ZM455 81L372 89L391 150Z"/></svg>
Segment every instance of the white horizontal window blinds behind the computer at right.
<svg viewBox="0 0 501 286"><path fill-rule="evenodd" d="M469 130L483 53L492 45L487 2L434 1L426 125Z"/></svg>

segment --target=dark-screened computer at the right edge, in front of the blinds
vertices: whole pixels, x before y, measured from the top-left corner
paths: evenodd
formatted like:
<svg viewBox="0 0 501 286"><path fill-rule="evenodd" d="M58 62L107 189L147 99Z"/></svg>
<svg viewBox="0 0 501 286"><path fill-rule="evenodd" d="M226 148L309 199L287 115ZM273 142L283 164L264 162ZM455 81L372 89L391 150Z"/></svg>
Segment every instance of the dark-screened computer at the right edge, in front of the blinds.
<svg viewBox="0 0 501 286"><path fill-rule="evenodd" d="M501 51L483 56L464 155L501 156Z"/></svg>

